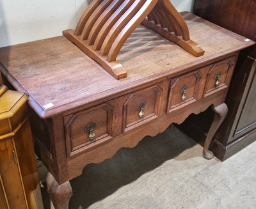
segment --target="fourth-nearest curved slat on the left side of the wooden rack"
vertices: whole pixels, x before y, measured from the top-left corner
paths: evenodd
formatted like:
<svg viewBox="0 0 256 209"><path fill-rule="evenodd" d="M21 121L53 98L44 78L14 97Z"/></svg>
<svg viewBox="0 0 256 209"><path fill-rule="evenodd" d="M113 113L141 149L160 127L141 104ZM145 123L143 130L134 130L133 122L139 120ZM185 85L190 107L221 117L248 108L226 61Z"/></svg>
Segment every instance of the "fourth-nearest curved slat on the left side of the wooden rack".
<svg viewBox="0 0 256 209"><path fill-rule="evenodd" d="M113 13L118 9L118 7L124 2L124 0L114 0L111 4L109 4L108 8L100 15L99 19L95 22L92 27L92 30L89 33L87 44L92 45L95 42L97 35L99 34L100 29L107 22L109 17L113 15Z"/></svg>

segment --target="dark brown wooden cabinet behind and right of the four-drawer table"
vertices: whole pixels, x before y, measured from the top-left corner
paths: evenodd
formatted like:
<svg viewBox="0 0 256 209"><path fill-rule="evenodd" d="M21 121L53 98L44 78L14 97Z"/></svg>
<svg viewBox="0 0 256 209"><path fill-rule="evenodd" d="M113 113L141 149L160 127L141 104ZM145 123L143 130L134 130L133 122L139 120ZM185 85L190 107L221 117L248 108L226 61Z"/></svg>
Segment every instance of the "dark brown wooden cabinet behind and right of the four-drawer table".
<svg viewBox="0 0 256 209"><path fill-rule="evenodd" d="M194 7L196 15L251 40L256 40L255 11L254 0L196 0ZM214 143L211 146L214 155L220 160L234 155L256 139L255 59L255 45L239 54L226 99L229 109L227 118L214 135ZM211 111L206 111L190 117L181 128L194 139L204 141L204 134L211 125L211 119Z"/></svg>

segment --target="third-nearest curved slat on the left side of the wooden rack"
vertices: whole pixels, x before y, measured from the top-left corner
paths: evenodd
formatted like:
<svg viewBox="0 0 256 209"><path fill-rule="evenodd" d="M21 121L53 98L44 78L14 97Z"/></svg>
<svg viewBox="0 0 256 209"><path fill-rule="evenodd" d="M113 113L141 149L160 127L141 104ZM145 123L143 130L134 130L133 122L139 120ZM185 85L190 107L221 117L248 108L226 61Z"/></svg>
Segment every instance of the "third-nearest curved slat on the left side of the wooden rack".
<svg viewBox="0 0 256 209"><path fill-rule="evenodd" d="M109 17L108 21L104 24L102 29L100 29L99 35L97 36L94 45L93 50L100 50L102 43L104 42L106 36L108 35L110 29L114 26L116 21L120 19L120 17L125 13L125 11L131 6L132 3L134 3L135 0L125 0L124 3L119 6L119 8L116 10L111 17Z"/></svg>

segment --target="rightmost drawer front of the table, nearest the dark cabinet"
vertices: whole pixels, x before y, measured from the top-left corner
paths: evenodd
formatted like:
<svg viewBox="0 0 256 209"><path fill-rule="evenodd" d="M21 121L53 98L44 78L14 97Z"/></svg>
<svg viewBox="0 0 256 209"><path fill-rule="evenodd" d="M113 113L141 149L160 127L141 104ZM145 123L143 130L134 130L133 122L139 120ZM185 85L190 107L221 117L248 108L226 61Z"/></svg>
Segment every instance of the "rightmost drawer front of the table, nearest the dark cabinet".
<svg viewBox="0 0 256 209"><path fill-rule="evenodd" d="M235 57L233 56L205 67L208 72L205 96L228 87L234 68L234 59Z"/></svg>

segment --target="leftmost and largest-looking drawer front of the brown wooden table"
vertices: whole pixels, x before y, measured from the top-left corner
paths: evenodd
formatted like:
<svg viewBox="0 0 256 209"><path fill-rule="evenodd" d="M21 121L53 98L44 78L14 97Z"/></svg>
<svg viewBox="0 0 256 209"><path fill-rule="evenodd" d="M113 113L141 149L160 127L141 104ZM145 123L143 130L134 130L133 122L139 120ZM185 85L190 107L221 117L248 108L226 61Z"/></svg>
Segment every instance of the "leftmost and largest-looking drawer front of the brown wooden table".
<svg viewBox="0 0 256 209"><path fill-rule="evenodd" d="M113 136L113 106L105 103L64 117L69 157Z"/></svg>

